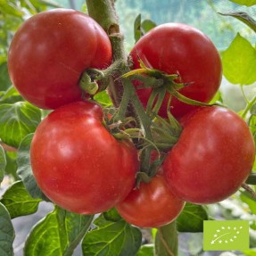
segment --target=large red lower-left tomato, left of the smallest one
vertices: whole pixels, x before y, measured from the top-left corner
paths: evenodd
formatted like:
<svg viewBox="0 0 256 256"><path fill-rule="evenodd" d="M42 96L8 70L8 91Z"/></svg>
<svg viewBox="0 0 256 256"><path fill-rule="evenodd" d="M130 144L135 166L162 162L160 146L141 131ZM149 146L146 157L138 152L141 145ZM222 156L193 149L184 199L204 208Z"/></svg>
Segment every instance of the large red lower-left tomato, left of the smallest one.
<svg viewBox="0 0 256 256"><path fill-rule="evenodd" d="M92 102L64 105L37 127L30 150L38 186L63 209L94 214L125 199L135 185L138 157L128 140L103 127Z"/></svg>

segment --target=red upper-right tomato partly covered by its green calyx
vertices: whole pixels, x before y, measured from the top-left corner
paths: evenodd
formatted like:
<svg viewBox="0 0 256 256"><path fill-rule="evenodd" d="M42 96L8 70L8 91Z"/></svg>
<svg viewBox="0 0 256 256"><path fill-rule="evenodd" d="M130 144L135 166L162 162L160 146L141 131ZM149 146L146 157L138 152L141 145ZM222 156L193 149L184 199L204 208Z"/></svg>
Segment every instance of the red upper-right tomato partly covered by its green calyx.
<svg viewBox="0 0 256 256"><path fill-rule="evenodd" d="M186 24L166 23L150 30L137 41L130 56L134 62L134 70L140 68L140 58L148 68L179 74L183 83L190 83L179 90L188 98L208 103L219 89L222 66L218 50L209 37ZM137 87L137 83L135 86ZM151 92L151 88L136 90L144 106ZM168 101L169 93L161 104L161 117L167 117ZM194 108L196 107L182 103L175 97L171 99L170 111L176 118Z"/></svg>

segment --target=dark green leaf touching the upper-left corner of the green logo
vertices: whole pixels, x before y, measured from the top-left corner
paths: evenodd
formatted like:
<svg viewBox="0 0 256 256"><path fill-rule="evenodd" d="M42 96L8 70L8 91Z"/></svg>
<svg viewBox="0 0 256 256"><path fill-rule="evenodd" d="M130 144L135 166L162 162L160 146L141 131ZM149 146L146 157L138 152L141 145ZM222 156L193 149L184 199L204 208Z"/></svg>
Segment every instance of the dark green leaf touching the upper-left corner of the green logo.
<svg viewBox="0 0 256 256"><path fill-rule="evenodd" d="M203 220L207 220L207 212L201 205L186 202L184 210L177 219L179 232L202 232Z"/></svg>

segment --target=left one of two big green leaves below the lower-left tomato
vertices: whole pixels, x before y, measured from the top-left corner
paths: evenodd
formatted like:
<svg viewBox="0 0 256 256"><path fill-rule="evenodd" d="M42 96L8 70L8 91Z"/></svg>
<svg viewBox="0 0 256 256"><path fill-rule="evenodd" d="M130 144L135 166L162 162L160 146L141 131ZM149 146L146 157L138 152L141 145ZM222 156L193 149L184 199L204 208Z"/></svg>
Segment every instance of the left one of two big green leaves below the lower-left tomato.
<svg viewBox="0 0 256 256"><path fill-rule="evenodd" d="M31 230L24 256L71 256L92 220L91 215L75 214L56 207Z"/></svg>

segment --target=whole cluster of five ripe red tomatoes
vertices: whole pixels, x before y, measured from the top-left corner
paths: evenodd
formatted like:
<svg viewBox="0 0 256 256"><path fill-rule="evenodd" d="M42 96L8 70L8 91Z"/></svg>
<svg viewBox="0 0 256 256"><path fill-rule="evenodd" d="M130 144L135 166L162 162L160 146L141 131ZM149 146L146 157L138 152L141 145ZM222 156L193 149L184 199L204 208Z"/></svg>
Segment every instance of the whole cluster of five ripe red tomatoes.
<svg viewBox="0 0 256 256"><path fill-rule="evenodd" d="M186 85L179 93L187 98L209 103L219 89L217 49L185 24L152 29L129 55L133 70L143 62L146 68L178 75L177 82ZM251 172L255 145L244 120L222 107L195 107L176 97L169 103L167 92L158 114L166 118L170 111L183 130L164 151L157 174L136 186L143 147L113 136L103 121L103 107L82 100L82 72L112 62L107 34L84 13L38 13L17 31L8 58L12 83L21 95L54 110L37 127L30 160L38 186L66 210L94 214L116 207L131 224L161 227L178 218L185 202L226 199ZM134 87L146 107L153 88L137 82Z"/></svg>

